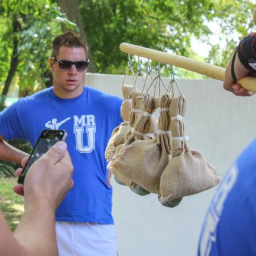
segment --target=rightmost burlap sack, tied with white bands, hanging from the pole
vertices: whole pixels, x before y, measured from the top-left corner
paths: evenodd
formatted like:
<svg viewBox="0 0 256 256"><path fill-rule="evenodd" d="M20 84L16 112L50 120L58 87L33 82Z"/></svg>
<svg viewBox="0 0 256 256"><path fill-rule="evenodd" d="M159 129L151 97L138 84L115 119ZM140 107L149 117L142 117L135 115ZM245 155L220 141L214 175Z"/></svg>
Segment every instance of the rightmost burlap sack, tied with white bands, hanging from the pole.
<svg viewBox="0 0 256 256"><path fill-rule="evenodd" d="M204 156L188 147L181 117L186 105L184 96L173 98L170 105L173 158L162 173L159 197L166 206L172 204L170 200L205 191L220 182L216 170Z"/></svg>

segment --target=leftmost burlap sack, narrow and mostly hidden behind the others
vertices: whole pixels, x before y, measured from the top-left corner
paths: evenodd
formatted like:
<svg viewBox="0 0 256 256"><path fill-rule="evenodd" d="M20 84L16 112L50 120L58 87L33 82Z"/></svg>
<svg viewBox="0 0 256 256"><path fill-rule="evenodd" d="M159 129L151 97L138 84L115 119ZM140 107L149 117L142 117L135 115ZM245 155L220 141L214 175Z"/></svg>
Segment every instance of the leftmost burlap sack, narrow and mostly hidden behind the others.
<svg viewBox="0 0 256 256"><path fill-rule="evenodd" d="M118 127L115 127L112 132L105 151L105 159L107 161L114 157L117 146L125 142L126 135L130 131L131 98L129 96L131 92L133 92L133 85L122 85L123 102L121 106L121 117L123 122Z"/></svg>

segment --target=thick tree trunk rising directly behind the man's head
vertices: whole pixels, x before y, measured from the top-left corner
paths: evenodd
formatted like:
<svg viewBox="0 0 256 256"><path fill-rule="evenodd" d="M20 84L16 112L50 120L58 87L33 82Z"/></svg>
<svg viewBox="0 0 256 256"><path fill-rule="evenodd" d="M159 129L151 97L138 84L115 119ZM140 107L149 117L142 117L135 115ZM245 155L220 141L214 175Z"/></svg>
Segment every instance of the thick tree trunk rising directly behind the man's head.
<svg viewBox="0 0 256 256"><path fill-rule="evenodd" d="M67 18L71 20L71 22L75 22L80 30L81 38L88 46L87 57L90 60L90 65L88 66L88 72L96 73L96 67L94 65L93 56L90 52L90 47L88 45L88 41L86 39L84 25L82 24L82 17L79 9L79 0L59 0L60 2L60 10L67 15ZM63 31L66 31L67 28L63 24L61 26Z"/></svg>

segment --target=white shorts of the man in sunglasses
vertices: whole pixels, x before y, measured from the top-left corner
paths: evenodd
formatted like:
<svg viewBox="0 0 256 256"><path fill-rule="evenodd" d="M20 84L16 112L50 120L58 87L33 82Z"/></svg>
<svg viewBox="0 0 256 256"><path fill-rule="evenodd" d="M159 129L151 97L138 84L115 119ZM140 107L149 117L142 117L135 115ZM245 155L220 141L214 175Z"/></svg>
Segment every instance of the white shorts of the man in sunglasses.
<svg viewBox="0 0 256 256"><path fill-rule="evenodd" d="M117 256L114 225L56 222L60 256Z"/></svg>

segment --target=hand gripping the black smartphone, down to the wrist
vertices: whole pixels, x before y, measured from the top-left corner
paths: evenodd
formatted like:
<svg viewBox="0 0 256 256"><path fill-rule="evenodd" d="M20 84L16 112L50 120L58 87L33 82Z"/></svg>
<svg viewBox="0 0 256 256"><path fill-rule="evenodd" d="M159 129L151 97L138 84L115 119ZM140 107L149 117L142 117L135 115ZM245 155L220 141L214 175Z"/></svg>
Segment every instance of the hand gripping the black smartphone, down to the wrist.
<svg viewBox="0 0 256 256"><path fill-rule="evenodd" d="M27 158L22 160L22 166ZM19 176L22 168L16 170ZM73 187L73 165L65 142L57 142L48 152L36 160L28 170L24 187L15 185L14 191L24 195L27 201L47 200L55 210L65 195Z"/></svg>

